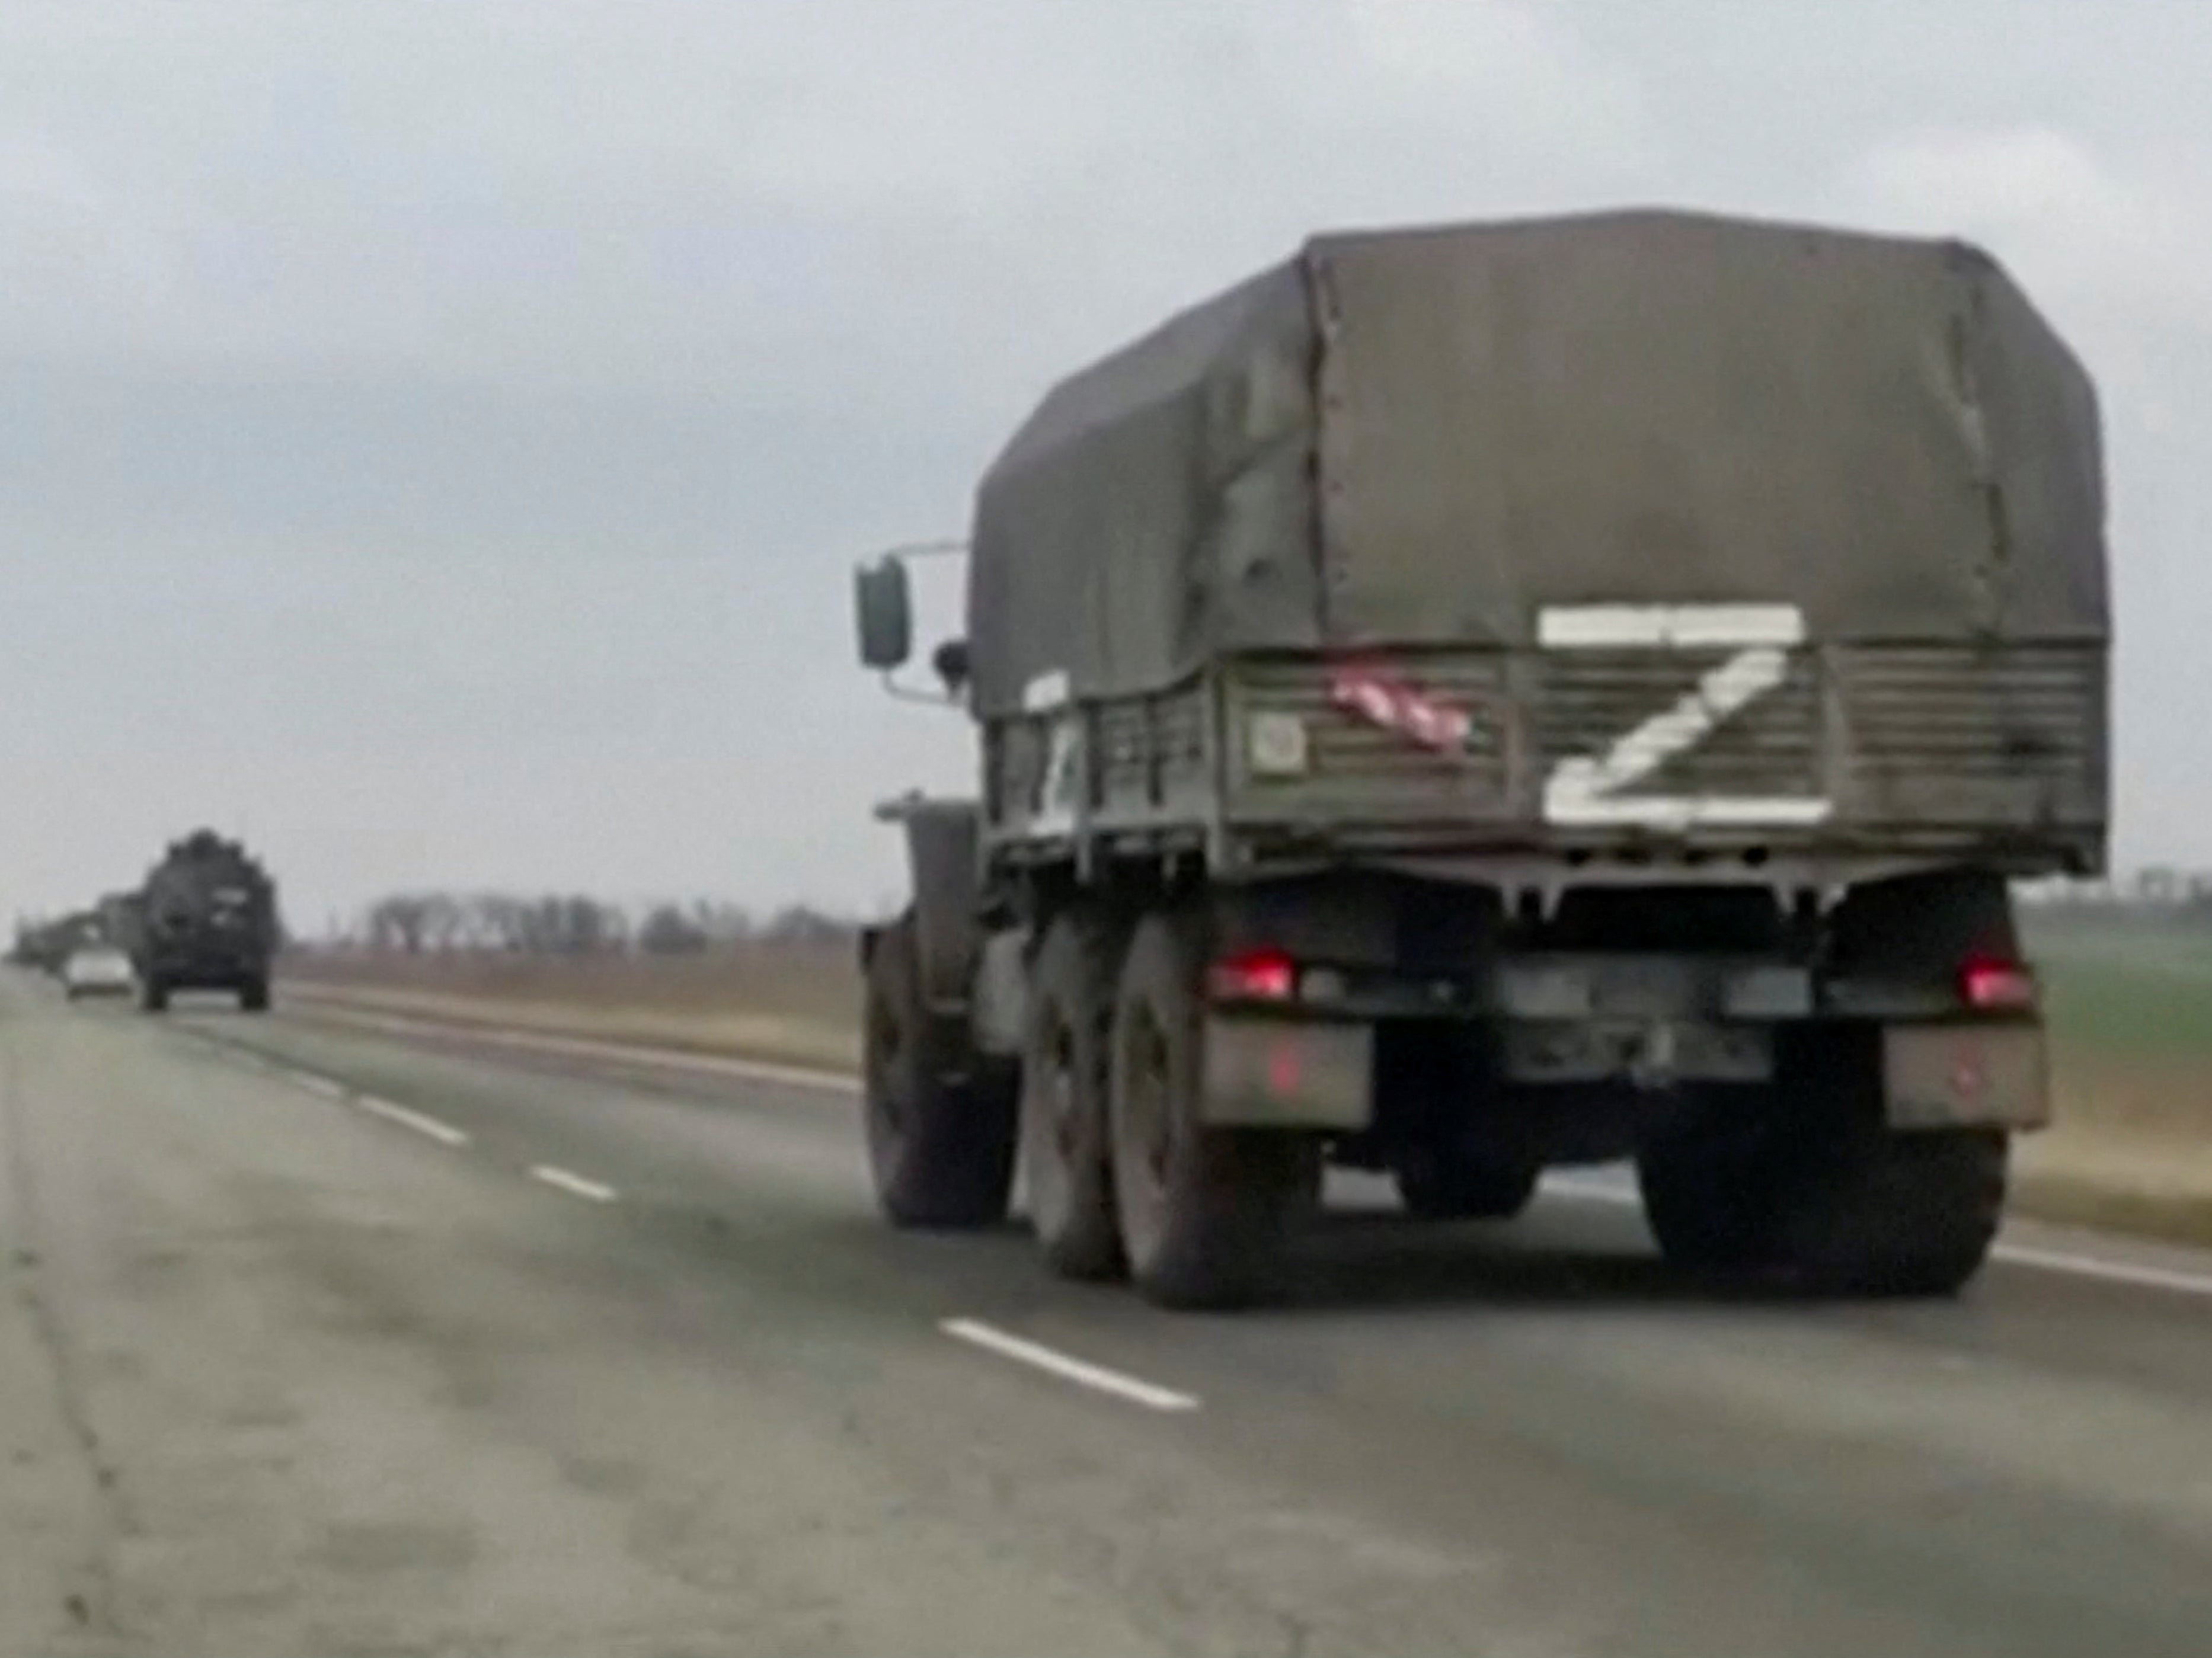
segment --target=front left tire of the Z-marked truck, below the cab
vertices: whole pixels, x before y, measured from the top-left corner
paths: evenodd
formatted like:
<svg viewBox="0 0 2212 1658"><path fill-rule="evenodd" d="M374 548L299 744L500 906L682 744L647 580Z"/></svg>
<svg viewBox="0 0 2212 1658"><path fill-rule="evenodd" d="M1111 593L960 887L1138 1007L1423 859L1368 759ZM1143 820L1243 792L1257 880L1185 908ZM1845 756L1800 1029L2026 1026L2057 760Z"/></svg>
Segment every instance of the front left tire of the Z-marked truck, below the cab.
<svg viewBox="0 0 2212 1658"><path fill-rule="evenodd" d="M960 1074L964 1032L922 999L911 911L867 959L867 1161L894 1227L989 1227L1013 1192L1018 1099L998 1072Z"/></svg>

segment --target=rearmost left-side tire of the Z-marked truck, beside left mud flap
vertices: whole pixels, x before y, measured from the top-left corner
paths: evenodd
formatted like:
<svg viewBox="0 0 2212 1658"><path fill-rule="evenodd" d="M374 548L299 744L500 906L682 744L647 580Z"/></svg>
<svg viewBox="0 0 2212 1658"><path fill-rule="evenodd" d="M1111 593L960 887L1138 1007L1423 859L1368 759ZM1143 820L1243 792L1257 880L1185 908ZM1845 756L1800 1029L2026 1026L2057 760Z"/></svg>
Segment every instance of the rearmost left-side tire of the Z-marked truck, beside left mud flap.
<svg viewBox="0 0 2212 1658"><path fill-rule="evenodd" d="M1194 917L1146 917L1121 968L1113 1026L1121 1247L1137 1291L1175 1309L1265 1298L1321 1180L1321 1145L1310 1134L1203 1123L1203 970Z"/></svg>

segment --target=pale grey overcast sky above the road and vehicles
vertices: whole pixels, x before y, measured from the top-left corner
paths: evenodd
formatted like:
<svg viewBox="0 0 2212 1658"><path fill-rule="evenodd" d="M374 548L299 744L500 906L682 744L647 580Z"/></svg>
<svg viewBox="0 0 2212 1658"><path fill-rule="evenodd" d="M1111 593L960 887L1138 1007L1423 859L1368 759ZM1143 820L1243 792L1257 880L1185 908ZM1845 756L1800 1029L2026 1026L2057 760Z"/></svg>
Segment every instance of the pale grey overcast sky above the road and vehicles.
<svg viewBox="0 0 2212 1658"><path fill-rule="evenodd" d="M874 904L847 566L1316 228L1960 232L2104 387L2119 849L2212 864L2212 4L0 0L0 902Z"/></svg>

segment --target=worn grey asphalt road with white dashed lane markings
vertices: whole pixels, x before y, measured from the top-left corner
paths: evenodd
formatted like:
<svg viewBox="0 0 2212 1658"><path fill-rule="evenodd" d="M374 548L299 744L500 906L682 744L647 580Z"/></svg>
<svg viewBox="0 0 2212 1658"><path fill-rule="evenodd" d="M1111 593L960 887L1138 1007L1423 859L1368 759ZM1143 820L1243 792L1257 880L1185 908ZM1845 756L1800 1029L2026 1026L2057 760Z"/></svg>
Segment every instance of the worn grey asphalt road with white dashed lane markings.
<svg viewBox="0 0 2212 1658"><path fill-rule="evenodd" d="M0 1654L2203 1658L2212 1260L2008 1247L1367 1205L1170 1318L878 1229L832 1090L7 982Z"/></svg>

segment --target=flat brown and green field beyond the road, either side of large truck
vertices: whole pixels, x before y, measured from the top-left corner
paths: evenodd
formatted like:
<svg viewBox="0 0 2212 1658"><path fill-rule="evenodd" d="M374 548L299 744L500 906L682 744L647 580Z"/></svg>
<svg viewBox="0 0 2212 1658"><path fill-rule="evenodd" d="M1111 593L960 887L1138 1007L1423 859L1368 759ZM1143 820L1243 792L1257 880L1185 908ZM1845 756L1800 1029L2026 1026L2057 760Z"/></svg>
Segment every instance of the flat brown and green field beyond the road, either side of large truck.
<svg viewBox="0 0 2212 1658"><path fill-rule="evenodd" d="M2031 937L2059 1121L2022 1143L2022 1207L2212 1240L2212 935L2039 917ZM849 944L686 957L310 957L292 982L392 1012L799 1066L858 1059Z"/></svg>

